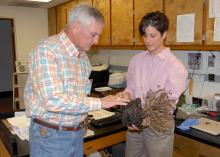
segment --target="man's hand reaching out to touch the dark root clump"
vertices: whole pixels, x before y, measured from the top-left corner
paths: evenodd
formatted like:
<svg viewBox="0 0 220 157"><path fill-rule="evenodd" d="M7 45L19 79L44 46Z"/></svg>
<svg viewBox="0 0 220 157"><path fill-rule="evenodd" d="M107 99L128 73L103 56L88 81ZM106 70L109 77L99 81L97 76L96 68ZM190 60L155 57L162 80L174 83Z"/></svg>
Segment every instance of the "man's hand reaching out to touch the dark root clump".
<svg viewBox="0 0 220 157"><path fill-rule="evenodd" d="M102 108L111 108L116 105L127 105L130 99L121 98L116 95L108 95L106 97L101 98Z"/></svg>

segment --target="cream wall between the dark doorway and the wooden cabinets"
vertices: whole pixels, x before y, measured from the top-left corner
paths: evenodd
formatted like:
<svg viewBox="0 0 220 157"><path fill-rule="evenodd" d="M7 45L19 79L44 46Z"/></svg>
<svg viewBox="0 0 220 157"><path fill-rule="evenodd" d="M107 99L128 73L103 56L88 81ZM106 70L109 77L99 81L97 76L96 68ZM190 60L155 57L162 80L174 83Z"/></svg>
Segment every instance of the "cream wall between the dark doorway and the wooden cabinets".
<svg viewBox="0 0 220 157"><path fill-rule="evenodd" d="M0 6L0 18L14 19L17 60L27 60L28 53L48 36L47 9Z"/></svg>

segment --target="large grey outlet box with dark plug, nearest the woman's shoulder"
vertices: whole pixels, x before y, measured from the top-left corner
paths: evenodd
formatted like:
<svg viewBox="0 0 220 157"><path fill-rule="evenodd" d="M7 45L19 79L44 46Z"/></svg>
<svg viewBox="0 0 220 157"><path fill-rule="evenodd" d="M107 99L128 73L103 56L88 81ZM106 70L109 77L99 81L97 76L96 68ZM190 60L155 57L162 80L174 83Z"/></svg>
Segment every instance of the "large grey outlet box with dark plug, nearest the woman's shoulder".
<svg viewBox="0 0 220 157"><path fill-rule="evenodd" d="M201 53L188 53L188 67L192 70L200 70L202 66Z"/></svg>

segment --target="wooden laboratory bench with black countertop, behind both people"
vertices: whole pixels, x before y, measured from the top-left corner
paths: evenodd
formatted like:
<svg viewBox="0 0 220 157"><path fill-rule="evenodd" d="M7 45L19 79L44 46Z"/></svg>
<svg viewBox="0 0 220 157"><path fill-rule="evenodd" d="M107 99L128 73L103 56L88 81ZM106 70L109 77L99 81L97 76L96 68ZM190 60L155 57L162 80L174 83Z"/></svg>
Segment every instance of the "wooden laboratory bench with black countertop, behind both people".
<svg viewBox="0 0 220 157"><path fill-rule="evenodd" d="M110 92L92 92L91 96L102 97L108 94L115 94L123 89L116 89ZM29 144L27 140L21 140L10 131L10 125L5 120L12 117L13 113L1 116L0 120L0 157L26 157L29 156ZM182 120L175 120L178 126ZM96 128L89 125L94 135L84 138L84 154L109 148L113 145L126 141L127 128L122 123ZM2 155L4 154L4 155ZM220 156L220 135L211 135L196 129L190 128L183 131L175 128L173 157L219 157Z"/></svg>

